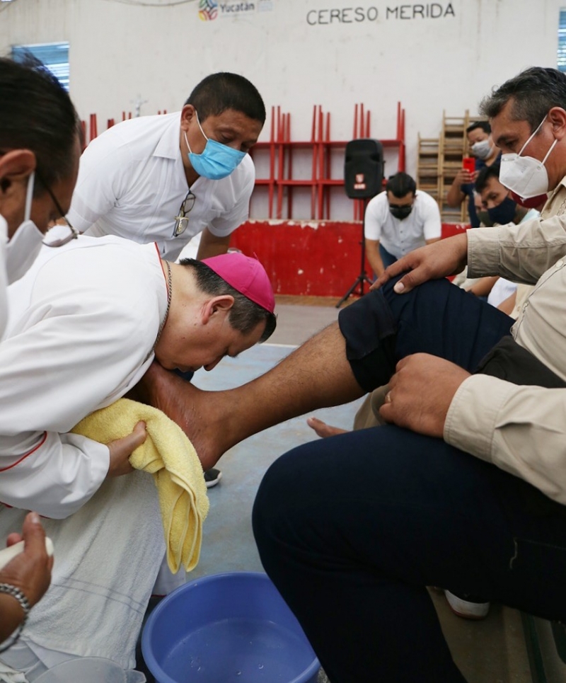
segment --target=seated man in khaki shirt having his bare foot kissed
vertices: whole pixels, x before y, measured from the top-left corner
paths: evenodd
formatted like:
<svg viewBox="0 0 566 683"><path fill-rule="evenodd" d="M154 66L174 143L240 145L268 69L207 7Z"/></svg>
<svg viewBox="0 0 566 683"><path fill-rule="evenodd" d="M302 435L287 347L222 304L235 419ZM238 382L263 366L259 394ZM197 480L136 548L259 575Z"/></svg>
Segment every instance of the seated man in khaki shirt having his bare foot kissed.
<svg viewBox="0 0 566 683"><path fill-rule="evenodd" d="M502 183L554 190L541 219L410 253L242 387L182 387L156 365L144 378L206 465L390 385L391 424L293 449L253 510L263 566L333 683L463 682L427 585L566 619L566 74L527 69L483 110L509 154ZM537 284L515 324L446 280L466 263Z"/></svg>

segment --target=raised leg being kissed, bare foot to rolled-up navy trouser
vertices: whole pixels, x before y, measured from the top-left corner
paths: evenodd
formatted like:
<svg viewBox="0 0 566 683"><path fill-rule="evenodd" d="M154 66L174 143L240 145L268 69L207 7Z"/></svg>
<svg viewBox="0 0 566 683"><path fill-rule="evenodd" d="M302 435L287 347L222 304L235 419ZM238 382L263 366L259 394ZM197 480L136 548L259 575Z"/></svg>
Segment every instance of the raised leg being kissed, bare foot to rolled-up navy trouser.
<svg viewBox="0 0 566 683"><path fill-rule="evenodd" d="M236 389L200 391L154 363L146 400L185 430L207 469L256 432L387 384L396 362L411 353L433 353L473 371L513 323L447 280L403 295L394 284L347 306L338 323Z"/></svg>

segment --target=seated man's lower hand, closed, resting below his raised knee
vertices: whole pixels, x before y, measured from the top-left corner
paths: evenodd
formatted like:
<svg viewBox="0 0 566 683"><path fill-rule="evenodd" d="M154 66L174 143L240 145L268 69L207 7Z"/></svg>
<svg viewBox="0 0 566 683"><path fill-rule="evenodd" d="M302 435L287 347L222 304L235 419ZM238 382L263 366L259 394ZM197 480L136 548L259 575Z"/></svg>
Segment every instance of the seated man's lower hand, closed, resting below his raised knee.
<svg viewBox="0 0 566 683"><path fill-rule="evenodd" d="M443 358L407 356L397 364L379 414L399 427L441 439L454 394L467 377L469 372Z"/></svg>

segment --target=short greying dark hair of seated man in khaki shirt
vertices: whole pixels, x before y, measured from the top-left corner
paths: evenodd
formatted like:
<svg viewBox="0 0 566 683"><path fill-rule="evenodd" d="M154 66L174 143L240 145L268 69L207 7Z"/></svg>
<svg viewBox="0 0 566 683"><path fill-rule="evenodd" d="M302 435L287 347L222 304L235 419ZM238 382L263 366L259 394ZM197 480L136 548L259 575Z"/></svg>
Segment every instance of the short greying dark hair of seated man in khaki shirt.
<svg viewBox="0 0 566 683"><path fill-rule="evenodd" d="M516 121L527 121L531 131L541 123L553 107L566 109L566 74L558 69L531 67L521 71L491 95L485 97L480 112L494 118L513 100L510 115Z"/></svg>

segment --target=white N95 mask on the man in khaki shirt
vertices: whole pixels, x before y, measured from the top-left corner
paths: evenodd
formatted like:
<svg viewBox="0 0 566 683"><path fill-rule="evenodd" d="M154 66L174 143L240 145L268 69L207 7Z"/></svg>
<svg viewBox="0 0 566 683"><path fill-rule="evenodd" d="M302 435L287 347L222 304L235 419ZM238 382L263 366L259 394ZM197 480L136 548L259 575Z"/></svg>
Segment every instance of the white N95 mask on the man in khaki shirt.
<svg viewBox="0 0 566 683"><path fill-rule="evenodd" d="M531 137L521 147L519 154L502 154L501 166L499 168L499 180L516 195L522 199L536 197L548 193L548 173L546 172L545 162L553 151L557 139L550 145L543 161L538 161L532 156L521 156L523 150L531 142L533 137L541 129L546 120L546 115L533 132Z"/></svg>

